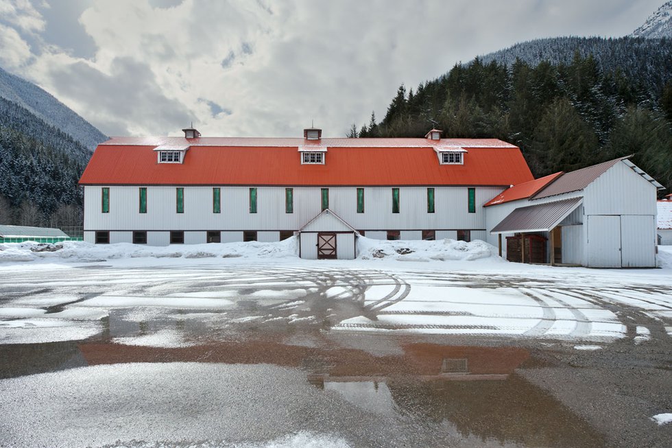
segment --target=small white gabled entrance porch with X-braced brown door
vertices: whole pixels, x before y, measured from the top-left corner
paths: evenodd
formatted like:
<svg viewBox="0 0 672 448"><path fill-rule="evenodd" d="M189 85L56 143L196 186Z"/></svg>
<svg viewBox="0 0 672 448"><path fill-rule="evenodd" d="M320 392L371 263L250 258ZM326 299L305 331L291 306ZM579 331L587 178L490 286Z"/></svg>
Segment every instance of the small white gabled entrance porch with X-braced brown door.
<svg viewBox="0 0 672 448"><path fill-rule="evenodd" d="M298 233L301 258L351 260L357 257L357 231L329 209L324 209Z"/></svg>

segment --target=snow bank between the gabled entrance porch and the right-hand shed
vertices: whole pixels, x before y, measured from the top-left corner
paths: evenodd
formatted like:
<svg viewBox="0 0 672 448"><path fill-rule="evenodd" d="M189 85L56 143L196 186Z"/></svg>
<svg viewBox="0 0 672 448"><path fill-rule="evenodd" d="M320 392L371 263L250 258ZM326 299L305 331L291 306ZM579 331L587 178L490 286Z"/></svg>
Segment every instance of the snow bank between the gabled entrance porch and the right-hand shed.
<svg viewBox="0 0 672 448"><path fill-rule="evenodd" d="M394 259L398 261L473 261L490 259L503 261L497 255L497 248L476 239L457 241L439 239L437 241L397 240L385 241L357 237L359 259Z"/></svg>

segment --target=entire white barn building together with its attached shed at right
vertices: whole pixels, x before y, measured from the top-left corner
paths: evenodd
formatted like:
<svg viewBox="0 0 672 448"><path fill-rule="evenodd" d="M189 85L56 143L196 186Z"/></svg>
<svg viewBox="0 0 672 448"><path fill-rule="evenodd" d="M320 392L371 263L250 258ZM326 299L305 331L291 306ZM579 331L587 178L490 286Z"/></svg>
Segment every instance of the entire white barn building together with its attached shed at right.
<svg viewBox="0 0 672 448"><path fill-rule="evenodd" d="M533 179L497 139L116 137L84 186L84 240L280 241L352 259L374 239L483 239L512 261L652 267L658 182L627 158ZM521 244L522 243L522 244Z"/></svg>

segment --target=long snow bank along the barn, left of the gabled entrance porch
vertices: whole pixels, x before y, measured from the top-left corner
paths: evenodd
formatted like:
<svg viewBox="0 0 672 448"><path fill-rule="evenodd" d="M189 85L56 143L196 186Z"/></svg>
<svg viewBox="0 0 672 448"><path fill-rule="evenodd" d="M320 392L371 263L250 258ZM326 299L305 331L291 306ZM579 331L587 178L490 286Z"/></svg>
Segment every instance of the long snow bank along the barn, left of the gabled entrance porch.
<svg viewBox="0 0 672 448"><path fill-rule="evenodd" d="M139 244L91 244L84 241L64 241L57 244L0 244L0 263L63 259L70 261L106 261L130 258L296 258L298 239L291 237L274 243L250 241L223 244L173 244L171 246L141 246Z"/></svg>

